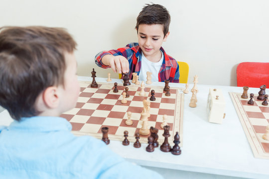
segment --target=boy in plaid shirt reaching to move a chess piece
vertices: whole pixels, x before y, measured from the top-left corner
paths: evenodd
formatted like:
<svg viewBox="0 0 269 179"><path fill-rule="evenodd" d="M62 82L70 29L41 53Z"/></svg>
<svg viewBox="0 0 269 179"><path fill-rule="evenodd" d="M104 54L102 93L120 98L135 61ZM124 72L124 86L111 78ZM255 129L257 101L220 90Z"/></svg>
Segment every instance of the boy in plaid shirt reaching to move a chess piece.
<svg viewBox="0 0 269 179"><path fill-rule="evenodd" d="M130 43L117 50L102 51L95 63L102 68L112 68L116 73L137 73L139 80L146 81L146 72L151 72L152 82L169 80L179 83L177 61L161 47L169 35L170 14L159 4L146 4L136 18L135 29L138 43Z"/></svg>

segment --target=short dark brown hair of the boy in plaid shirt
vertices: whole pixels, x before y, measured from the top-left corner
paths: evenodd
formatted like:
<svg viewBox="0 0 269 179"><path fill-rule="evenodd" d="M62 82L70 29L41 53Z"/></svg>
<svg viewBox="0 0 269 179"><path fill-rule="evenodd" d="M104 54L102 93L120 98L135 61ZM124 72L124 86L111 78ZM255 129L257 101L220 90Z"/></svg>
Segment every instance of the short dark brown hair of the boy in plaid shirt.
<svg viewBox="0 0 269 179"><path fill-rule="evenodd" d="M168 10L159 4L146 4L136 18L136 31L140 24L162 24L164 36L169 31L171 21Z"/></svg>

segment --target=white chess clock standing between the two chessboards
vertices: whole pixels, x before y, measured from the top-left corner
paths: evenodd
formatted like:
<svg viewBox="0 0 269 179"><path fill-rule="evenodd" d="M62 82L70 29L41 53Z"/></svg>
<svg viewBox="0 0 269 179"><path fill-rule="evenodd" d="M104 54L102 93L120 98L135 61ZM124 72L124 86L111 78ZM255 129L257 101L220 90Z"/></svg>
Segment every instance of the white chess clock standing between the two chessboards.
<svg viewBox="0 0 269 179"><path fill-rule="evenodd" d="M209 89L207 98L208 121L222 124L225 118L225 100L221 89Z"/></svg>

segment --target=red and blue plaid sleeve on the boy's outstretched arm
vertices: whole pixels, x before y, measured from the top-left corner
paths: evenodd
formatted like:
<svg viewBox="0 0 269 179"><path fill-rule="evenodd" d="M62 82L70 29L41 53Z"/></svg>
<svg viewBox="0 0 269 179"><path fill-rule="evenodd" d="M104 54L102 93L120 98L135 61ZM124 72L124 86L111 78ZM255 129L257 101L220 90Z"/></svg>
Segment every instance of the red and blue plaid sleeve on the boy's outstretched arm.
<svg viewBox="0 0 269 179"><path fill-rule="evenodd" d="M117 50L109 50L109 51L102 51L102 52L99 52L96 56L95 56L95 63L98 67L101 67L101 68L104 68L104 69L107 69L107 68L110 68L110 66L107 66L107 65L104 65L102 63L102 58L105 56L105 55L114 55L114 56L118 56L118 55L121 55L121 56L124 56L126 59L130 59L131 56L133 55L133 52L131 50L131 48L129 46L126 46L126 47L123 47L123 48L119 48Z"/></svg>

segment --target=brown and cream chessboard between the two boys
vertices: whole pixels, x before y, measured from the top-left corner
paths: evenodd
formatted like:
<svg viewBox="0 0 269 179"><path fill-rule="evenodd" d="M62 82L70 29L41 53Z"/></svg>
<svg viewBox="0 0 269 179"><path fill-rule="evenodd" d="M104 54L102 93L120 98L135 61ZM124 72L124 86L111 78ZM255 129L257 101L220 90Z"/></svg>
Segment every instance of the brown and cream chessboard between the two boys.
<svg viewBox="0 0 269 179"><path fill-rule="evenodd" d="M98 83L98 82L97 82ZM180 135L180 146L183 144L183 89L170 88L170 96L165 96L163 87L145 86L145 96L139 96L140 86L132 84L123 86L118 84L119 92L113 92L114 83L98 83L98 88L91 88L90 82L80 82L81 92L75 108L63 113L61 116L72 124L72 132L75 135L90 135L98 139L102 138L102 127L109 127L108 136L110 140L124 140L124 131L129 132L128 140L135 142L135 133L141 128L141 112L143 110L143 99L150 101L151 89L155 90L155 101L150 101L150 116L148 117L148 128L153 126L159 129L158 142L164 141L162 136L164 130L160 128L163 115L167 115L166 122L170 126L170 137L168 142L173 145L174 135L178 131ZM122 93L128 87L130 97L127 103L122 104ZM133 125L126 125L127 112L132 112ZM147 143L147 136L141 136L139 141Z"/></svg>

